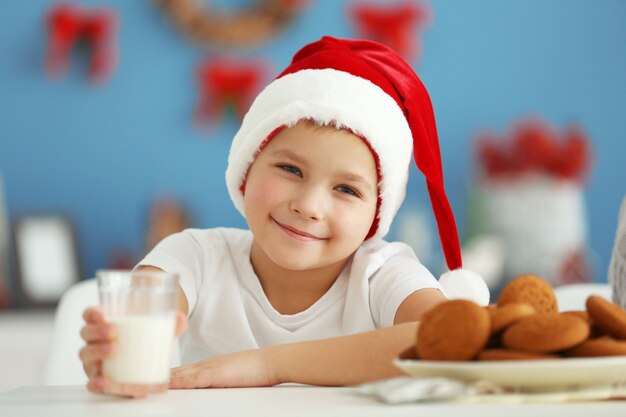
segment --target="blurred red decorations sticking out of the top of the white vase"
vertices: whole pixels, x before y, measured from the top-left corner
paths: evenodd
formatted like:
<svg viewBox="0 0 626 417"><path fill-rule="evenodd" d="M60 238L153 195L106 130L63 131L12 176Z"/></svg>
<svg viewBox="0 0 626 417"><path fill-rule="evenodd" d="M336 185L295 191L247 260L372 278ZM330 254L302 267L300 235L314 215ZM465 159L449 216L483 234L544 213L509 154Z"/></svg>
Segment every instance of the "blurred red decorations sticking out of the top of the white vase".
<svg viewBox="0 0 626 417"><path fill-rule="evenodd" d="M491 178L539 172L583 181L591 165L589 139L577 125L558 132L545 122L524 120L508 137L481 133L476 144L477 159Z"/></svg>

